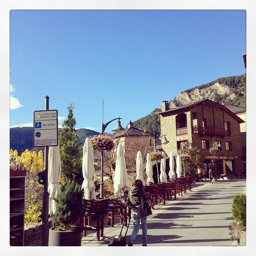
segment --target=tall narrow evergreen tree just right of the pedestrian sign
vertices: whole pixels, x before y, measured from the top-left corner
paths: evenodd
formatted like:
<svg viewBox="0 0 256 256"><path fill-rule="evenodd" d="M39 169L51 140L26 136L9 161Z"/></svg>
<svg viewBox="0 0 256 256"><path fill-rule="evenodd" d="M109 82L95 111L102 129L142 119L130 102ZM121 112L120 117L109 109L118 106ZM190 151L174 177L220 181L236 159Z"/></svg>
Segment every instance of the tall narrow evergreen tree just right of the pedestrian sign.
<svg viewBox="0 0 256 256"><path fill-rule="evenodd" d="M82 151L78 146L75 132L76 119L73 115L74 103L68 107L68 118L64 120L59 134L61 176L65 182L70 180L82 185Z"/></svg>

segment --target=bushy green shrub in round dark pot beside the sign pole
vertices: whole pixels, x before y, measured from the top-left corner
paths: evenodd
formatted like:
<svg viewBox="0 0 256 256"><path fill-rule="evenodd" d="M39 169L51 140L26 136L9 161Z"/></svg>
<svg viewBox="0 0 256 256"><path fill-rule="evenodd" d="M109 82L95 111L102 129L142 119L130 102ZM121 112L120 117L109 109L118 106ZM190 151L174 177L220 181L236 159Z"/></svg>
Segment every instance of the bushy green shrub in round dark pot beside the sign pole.
<svg viewBox="0 0 256 256"><path fill-rule="evenodd" d="M81 186L67 182L55 198L53 221L59 226L49 230L49 246L81 246L83 227L79 218L83 212L84 192Z"/></svg>

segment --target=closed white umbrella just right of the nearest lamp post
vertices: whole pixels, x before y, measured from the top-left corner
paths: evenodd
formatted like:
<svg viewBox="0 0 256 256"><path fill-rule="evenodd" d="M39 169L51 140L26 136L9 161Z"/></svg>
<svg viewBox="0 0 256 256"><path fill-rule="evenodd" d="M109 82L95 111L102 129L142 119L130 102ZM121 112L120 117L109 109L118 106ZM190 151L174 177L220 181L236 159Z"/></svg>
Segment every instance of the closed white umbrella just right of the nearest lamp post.
<svg viewBox="0 0 256 256"><path fill-rule="evenodd" d="M129 190L126 165L124 159L124 149L121 144L116 150L116 168L114 176L114 196L120 196Z"/></svg>

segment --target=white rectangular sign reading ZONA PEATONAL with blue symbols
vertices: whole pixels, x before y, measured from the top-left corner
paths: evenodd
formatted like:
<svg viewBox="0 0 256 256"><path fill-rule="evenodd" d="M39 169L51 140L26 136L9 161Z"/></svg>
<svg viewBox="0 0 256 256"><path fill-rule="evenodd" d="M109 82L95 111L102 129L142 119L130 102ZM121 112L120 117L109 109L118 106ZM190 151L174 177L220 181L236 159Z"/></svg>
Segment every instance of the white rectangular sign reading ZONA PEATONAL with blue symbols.
<svg viewBox="0 0 256 256"><path fill-rule="evenodd" d="M58 110L34 111L33 145L58 146Z"/></svg>

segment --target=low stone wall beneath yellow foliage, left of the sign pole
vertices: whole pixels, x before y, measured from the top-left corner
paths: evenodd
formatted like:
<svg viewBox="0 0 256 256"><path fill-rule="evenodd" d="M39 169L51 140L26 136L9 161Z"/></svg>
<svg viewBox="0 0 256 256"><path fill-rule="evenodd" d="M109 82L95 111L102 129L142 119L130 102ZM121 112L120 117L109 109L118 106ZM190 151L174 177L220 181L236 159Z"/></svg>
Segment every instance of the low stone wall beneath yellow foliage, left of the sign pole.
<svg viewBox="0 0 256 256"><path fill-rule="evenodd" d="M52 227L51 220L48 226ZM42 222L28 224L24 227L24 246L42 246Z"/></svg>

